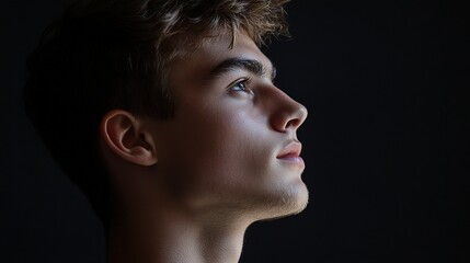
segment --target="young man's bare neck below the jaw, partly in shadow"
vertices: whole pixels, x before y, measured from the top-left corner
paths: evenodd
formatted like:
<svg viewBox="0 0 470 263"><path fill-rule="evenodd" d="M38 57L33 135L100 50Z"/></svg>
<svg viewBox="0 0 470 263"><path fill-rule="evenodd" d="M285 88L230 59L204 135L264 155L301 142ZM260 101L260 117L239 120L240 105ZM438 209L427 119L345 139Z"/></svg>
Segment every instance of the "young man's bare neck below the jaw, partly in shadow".
<svg viewBox="0 0 470 263"><path fill-rule="evenodd" d="M144 211L142 211L144 210ZM174 210L129 209L108 231L108 263L236 263L249 224L193 217ZM222 222L222 224L220 224Z"/></svg>

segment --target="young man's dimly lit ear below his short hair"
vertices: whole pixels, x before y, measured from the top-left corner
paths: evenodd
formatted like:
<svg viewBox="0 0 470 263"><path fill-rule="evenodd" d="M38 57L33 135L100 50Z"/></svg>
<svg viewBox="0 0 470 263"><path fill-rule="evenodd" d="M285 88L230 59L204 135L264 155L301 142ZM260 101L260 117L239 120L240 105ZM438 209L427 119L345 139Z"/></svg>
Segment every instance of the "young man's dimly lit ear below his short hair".
<svg viewBox="0 0 470 263"><path fill-rule="evenodd" d="M108 149L124 160L145 167L157 163L153 139L133 114L122 110L106 113L100 132Z"/></svg>

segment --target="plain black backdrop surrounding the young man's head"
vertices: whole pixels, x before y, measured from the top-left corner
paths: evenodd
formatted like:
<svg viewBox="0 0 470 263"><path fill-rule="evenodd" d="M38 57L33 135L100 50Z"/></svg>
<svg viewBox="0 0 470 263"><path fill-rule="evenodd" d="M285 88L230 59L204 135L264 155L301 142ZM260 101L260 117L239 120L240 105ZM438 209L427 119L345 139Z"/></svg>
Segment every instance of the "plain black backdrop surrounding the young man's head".
<svg viewBox="0 0 470 263"><path fill-rule="evenodd" d="M0 5L0 262L104 262L98 219L20 102L24 59L65 2ZM241 262L470 262L469 10L296 0L288 13L293 39L265 52L309 108L310 204L250 227Z"/></svg>

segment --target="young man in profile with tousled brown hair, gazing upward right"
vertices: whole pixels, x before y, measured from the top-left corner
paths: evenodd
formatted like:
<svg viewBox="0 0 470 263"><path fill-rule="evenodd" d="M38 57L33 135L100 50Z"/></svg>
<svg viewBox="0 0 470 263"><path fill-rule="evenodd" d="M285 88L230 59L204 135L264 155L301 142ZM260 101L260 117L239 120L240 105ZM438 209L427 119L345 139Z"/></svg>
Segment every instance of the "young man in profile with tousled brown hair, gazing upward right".
<svg viewBox="0 0 470 263"><path fill-rule="evenodd" d="M94 0L28 59L26 112L106 229L108 262L237 262L308 202L307 110L259 49L285 0Z"/></svg>

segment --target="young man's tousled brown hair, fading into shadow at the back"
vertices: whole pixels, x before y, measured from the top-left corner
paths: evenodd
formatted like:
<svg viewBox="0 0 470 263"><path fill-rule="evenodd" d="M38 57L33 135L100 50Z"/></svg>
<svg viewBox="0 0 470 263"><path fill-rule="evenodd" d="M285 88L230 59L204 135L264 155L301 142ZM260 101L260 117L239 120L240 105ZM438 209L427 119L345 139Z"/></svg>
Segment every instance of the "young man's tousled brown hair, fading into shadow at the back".
<svg viewBox="0 0 470 263"><path fill-rule="evenodd" d="M172 117L171 61L244 30L262 45L287 35L288 0L89 0L70 5L28 57L25 111L56 162L107 225L110 187L98 151L101 117L122 108ZM228 47L229 48L229 47Z"/></svg>

